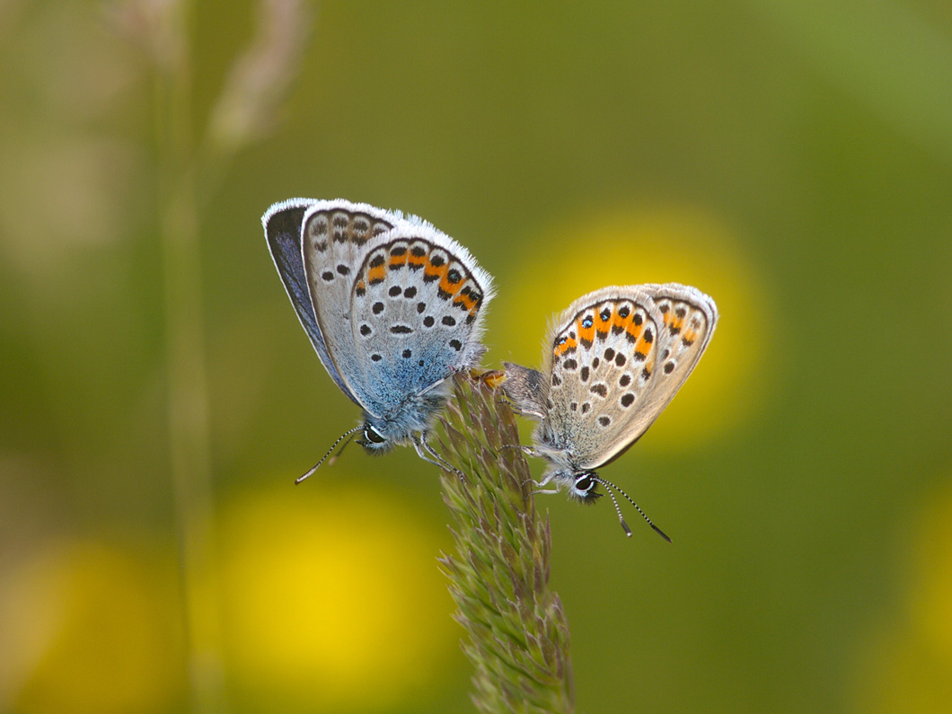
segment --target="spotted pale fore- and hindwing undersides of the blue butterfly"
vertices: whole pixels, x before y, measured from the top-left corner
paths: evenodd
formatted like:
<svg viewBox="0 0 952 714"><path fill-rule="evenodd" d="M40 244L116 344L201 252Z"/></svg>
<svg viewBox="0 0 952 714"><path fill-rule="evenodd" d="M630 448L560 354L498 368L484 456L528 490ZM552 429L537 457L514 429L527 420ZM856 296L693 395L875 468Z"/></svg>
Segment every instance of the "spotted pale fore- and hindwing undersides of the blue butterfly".
<svg viewBox="0 0 952 714"><path fill-rule="evenodd" d="M478 361L491 279L425 221L335 203L304 219L311 301L347 389L387 416Z"/></svg>

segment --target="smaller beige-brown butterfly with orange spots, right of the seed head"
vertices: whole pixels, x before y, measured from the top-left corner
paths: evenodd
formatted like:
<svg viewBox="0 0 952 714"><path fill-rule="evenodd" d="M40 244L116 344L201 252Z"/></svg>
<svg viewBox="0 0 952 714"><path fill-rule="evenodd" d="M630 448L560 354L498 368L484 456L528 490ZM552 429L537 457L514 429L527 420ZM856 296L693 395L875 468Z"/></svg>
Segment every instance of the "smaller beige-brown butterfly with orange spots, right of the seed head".
<svg viewBox="0 0 952 714"><path fill-rule="evenodd" d="M667 283L602 288L562 312L545 337L543 369L504 363L503 390L539 422L528 453L548 461L538 486L555 482L582 503L602 485L625 533L622 494L598 475L641 438L697 366L717 325L714 301L697 288Z"/></svg>

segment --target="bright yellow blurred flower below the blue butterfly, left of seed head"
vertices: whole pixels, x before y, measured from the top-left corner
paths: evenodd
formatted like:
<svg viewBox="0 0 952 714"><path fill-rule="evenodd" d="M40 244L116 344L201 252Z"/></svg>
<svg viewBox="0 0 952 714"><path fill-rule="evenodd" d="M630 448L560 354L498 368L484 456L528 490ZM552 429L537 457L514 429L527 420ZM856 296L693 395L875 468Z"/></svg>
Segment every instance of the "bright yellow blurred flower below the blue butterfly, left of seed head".
<svg viewBox="0 0 952 714"><path fill-rule="evenodd" d="M385 708L445 675L461 631L436 537L406 504L341 486L340 466L333 479L226 507L229 668L251 697Z"/></svg>

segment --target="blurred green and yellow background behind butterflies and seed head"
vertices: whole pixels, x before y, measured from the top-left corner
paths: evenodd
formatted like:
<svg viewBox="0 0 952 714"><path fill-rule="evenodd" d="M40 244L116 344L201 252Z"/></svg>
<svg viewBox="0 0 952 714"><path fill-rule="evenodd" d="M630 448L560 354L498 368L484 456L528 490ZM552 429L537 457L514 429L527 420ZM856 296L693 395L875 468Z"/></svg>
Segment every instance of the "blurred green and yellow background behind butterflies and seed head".
<svg viewBox="0 0 952 714"><path fill-rule="evenodd" d="M470 248L489 367L717 301L604 470L674 544L540 497L579 711L952 711L948 3L8 0L0 68L0 710L471 710L436 469L292 486L358 418L303 195Z"/></svg>

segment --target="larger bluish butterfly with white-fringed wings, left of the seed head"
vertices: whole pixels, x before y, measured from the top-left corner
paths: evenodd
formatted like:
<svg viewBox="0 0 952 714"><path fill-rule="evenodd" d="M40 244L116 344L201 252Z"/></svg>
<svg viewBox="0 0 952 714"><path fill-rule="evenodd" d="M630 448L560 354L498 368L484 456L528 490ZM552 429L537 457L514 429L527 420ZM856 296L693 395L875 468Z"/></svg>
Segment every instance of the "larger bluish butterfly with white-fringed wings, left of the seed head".
<svg viewBox="0 0 952 714"><path fill-rule="evenodd" d="M292 198L268 208L262 224L321 363L363 410L362 424L297 483L358 431L369 453L412 444L425 461L448 467L426 431L446 402L446 378L486 351L489 273L446 233L400 211Z"/></svg>

